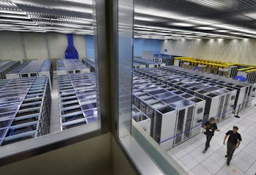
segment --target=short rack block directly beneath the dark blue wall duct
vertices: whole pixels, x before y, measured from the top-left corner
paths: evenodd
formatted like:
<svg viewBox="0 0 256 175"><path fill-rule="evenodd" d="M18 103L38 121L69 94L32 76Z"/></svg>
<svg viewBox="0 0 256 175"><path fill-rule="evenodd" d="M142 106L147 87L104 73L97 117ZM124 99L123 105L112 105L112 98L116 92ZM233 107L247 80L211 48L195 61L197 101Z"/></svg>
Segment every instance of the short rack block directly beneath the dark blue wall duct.
<svg viewBox="0 0 256 175"><path fill-rule="evenodd" d="M57 75L89 72L89 68L78 59L57 59Z"/></svg>

